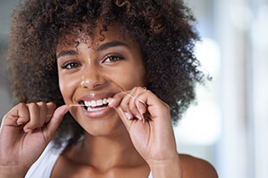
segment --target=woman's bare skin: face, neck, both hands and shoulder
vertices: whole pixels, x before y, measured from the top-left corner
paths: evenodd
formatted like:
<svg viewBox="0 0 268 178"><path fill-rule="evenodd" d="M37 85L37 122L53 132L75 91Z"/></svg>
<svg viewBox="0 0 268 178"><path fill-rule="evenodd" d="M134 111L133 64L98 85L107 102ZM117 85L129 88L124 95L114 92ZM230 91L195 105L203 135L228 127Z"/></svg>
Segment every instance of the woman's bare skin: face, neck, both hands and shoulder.
<svg viewBox="0 0 268 178"><path fill-rule="evenodd" d="M51 177L146 178L150 171L154 178L217 177L207 162L177 153L169 106L143 87L146 71L138 44L122 38L116 26L104 32L104 41L99 41L98 31L93 41L57 46L66 105L55 109L53 103L19 104L5 115L0 176L26 174L69 109L85 138L63 151ZM108 96L112 98L103 111L88 114L83 107L68 108Z"/></svg>

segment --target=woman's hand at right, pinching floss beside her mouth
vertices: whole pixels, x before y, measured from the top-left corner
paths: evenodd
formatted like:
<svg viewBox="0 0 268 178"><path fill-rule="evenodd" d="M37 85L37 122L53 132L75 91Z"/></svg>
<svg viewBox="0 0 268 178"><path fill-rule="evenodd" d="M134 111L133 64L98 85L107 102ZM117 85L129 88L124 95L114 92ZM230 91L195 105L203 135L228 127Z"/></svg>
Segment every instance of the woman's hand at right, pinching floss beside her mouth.
<svg viewBox="0 0 268 178"><path fill-rule="evenodd" d="M109 106L117 111L136 150L150 167L174 161L180 166L170 107L166 103L151 91L135 87L127 93L115 94Z"/></svg>

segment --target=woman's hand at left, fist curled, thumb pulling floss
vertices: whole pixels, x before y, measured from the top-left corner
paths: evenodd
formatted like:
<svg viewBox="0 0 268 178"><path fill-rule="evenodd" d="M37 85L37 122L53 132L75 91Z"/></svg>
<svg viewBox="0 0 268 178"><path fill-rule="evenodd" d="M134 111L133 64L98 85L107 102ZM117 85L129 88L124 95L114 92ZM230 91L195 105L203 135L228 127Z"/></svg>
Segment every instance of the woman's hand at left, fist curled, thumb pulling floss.
<svg viewBox="0 0 268 178"><path fill-rule="evenodd" d="M52 140L67 111L67 105L55 109L52 102L13 107L0 128L0 177L24 176Z"/></svg>

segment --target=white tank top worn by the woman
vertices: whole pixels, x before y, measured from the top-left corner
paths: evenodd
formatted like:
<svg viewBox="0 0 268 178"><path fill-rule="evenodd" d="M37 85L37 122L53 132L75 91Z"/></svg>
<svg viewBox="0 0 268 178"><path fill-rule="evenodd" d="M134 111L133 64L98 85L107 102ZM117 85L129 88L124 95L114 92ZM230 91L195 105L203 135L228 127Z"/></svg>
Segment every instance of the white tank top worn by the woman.
<svg viewBox="0 0 268 178"><path fill-rule="evenodd" d="M30 166L25 178L50 178L54 164L63 150L64 147L59 150L53 149L53 142L50 142L38 160ZM153 178L152 172L148 178Z"/></svg>

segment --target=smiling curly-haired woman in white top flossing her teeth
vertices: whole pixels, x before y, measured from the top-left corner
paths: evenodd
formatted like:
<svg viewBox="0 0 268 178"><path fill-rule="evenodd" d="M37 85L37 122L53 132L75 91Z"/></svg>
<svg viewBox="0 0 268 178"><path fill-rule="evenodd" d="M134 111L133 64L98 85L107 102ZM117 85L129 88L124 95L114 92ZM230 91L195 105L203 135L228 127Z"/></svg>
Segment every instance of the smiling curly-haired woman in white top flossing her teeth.
<svg viewBox="0 0 268 178"><path fill-rule="evenodd" d="M192 22L172 1L17 6L1 177L217 177L172 131L204 78Z"/></svg>

